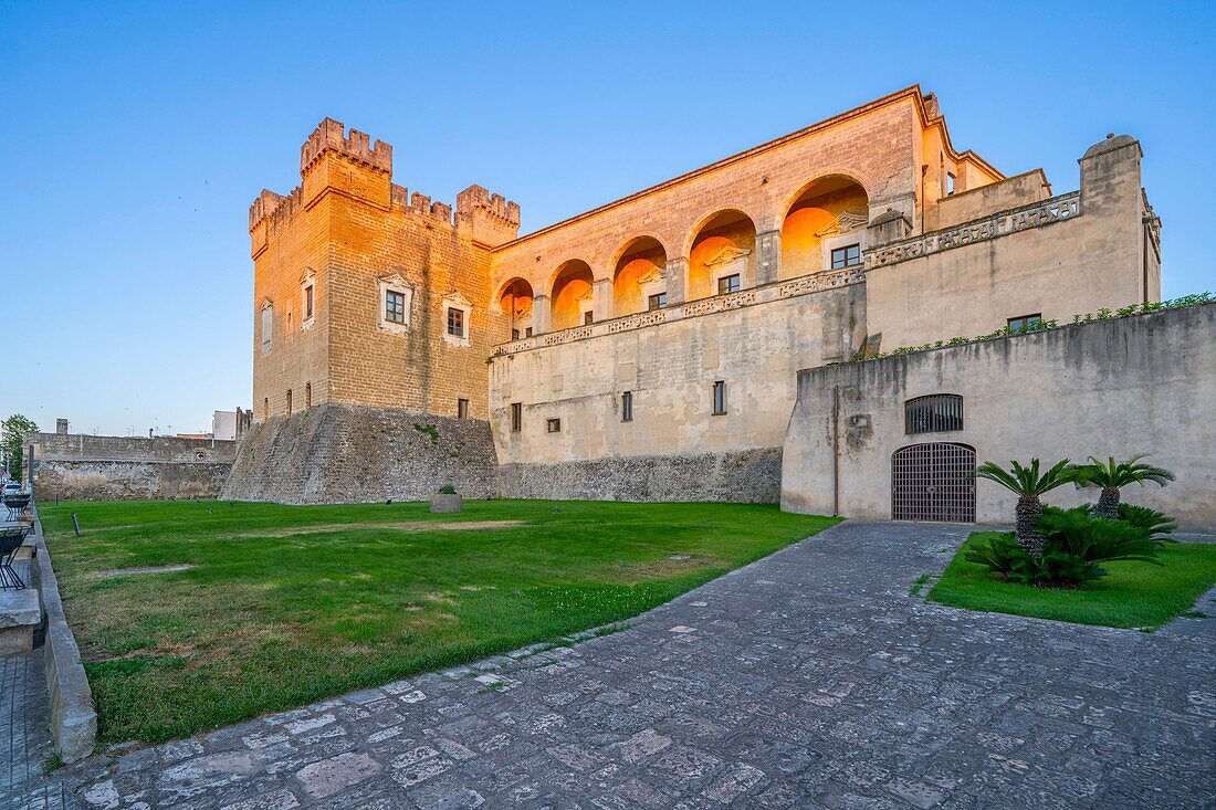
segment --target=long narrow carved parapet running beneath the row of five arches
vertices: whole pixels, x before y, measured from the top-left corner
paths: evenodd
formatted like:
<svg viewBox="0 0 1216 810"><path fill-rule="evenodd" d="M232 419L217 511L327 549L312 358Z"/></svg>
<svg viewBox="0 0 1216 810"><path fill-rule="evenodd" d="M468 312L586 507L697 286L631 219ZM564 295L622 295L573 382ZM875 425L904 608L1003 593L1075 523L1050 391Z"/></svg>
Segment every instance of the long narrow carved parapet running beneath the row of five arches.
<svg viewBox="0 0 1216 810"><path fill-rule="evenodd" d="M619 334L621 332L631 332L634 330L641 330L649 326L658 326L659 324L680 321L688 317L699 317L711 313L724 313L734 309L743 309L745 306L766 304L773 300L809 296L828 289L863 283L865 280L865 269L862 265L857 265L844 270L831 270L816 272L809 276L799 276L796 279L787 279L784 281L775 281L726 296L699 298L683 304L672 304L665 309L634 313L632 315L623 315L621 317L614 317L607 321L585 324L567 330L559 330L557 332L546 332L545 334L534 334L529 338L511 341L510 343L495 347L494 356L505 356L519 351L528 351L530 349L542 349L551 345L572 343L574 341L585 341L593 337Z"/></svg>

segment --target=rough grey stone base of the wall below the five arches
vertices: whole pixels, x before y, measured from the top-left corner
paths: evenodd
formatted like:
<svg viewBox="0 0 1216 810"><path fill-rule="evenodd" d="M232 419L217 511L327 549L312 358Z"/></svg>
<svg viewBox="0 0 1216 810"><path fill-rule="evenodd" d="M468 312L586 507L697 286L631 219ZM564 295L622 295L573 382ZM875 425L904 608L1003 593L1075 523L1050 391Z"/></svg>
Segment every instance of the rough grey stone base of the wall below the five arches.
<svg viewBox="0 0 1216 810"><path fill-rule="evenodd" d="M776 504L781 448L510 463L499 474L505 497Z"/></svg>

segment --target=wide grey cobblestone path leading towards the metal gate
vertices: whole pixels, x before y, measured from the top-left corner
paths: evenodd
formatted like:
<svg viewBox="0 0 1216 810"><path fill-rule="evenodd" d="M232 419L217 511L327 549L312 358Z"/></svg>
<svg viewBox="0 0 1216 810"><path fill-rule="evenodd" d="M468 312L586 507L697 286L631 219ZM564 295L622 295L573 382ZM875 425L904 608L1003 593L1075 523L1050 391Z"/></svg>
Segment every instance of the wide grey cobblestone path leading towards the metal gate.
<svg viewBox="0 0 1216 810"><path fill-rule="evenodd" d="M107 810L1212 806L1212 636L910 596L968 530L845 523L627 630L98 758L72 769L77 795Z"/></svg>

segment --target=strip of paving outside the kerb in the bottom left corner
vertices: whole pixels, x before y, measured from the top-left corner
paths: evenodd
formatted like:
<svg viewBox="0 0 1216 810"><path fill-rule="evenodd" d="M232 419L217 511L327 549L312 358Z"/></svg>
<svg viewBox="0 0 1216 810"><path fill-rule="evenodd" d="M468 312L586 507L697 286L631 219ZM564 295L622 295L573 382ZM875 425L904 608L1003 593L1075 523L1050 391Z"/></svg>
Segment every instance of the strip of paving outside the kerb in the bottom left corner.
<svg viewBox="0 0 1216 810"><path fill-rule="evenodd" d="M0 658L0 797L29 810L64 806L61 780L44 776L49 711L41 651Z"/></svg>

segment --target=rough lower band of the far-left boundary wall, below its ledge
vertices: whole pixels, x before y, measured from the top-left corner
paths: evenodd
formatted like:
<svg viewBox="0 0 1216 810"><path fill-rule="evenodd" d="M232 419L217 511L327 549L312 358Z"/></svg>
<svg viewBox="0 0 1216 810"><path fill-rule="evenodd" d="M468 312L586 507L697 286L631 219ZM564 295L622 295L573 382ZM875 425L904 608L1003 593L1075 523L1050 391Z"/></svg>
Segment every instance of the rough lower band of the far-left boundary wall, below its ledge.
<svg viewBox="0 0 1216 810"><path fill-rule="evenodd" d="M230 461L69 461L35 455L38 497L43 501L218 497Z"/></svg>

